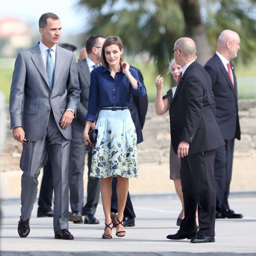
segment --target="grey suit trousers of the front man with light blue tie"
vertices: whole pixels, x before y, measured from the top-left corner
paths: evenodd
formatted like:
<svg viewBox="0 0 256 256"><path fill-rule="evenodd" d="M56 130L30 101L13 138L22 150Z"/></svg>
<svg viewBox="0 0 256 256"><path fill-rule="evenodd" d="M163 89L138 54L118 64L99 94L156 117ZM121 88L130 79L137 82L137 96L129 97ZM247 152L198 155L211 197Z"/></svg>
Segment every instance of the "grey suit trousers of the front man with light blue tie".
<svg viewBox="0 0 256 256"><path fill-rule="evenodd" d="M27 138L29 139L29 138ZM44 136L29 144L23 143L20 168L21 178L21 216L23 221L30 218L38 192L40 169L47 162L47 149L51 155L54 189L54 233L68 229L68 162L70 140L61 134L53 113Z"/></svg>

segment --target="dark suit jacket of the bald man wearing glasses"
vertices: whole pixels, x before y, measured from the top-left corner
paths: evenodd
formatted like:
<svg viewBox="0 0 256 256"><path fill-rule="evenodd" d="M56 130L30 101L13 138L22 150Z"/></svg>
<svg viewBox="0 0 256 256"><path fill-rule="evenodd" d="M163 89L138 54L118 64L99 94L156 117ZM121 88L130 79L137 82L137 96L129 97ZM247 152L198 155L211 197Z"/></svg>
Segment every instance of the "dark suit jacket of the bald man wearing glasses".
<svg viewBox="0 0 256 256"><path fill-rule="evenodd" d="M190 143L189 154L210 151L225 144L214 116L211 78L197 61L183 74L169 114L176 154L181 141Z"/></svg>

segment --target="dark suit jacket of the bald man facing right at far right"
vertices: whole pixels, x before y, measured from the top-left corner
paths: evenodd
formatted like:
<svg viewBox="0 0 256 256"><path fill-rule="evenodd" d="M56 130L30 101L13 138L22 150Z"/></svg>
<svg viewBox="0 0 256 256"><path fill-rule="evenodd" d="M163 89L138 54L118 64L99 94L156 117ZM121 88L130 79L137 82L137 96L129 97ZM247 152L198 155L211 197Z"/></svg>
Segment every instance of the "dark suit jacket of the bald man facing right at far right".
<svg viewBox="0 0 256 256"><path fill-rule="evenodd" d="M211 57L204 68L211 76L212 91L216 103L216 121L224 139L240 139L238 117L237 79L233 63L230 62L235 88L228 72L217 54Z"/></svg>

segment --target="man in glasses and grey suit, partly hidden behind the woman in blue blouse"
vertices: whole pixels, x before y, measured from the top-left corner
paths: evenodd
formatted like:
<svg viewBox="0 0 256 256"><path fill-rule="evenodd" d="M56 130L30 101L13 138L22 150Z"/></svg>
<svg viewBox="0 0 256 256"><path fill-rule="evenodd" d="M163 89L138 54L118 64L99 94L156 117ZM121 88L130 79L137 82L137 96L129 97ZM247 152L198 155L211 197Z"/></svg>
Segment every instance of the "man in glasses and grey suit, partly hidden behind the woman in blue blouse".
<svg viewBox="0 0 256 256"><path fill-rule="evenodd" d="M77 107L77 119L72 123L72 141L70 150L70 206L72 212L68 219L74 223L83 223L82 214L85 215L85 224L99 224L94 217L100 194L100 179L91 178L91 152L88 154L88 183L87 203L83 207L83 173L85 162L85 148L83 130L85 126L84 117L87 114L88 98L90 90L90 72L97 68L101 61L102 45L105 38L101 35L92 35L87 38L86 50L88 56L77 63L78 79L81 89L80 102ZM95 124L93 124L95 126ZM94 128L94 127L92 127Z"/></svg>

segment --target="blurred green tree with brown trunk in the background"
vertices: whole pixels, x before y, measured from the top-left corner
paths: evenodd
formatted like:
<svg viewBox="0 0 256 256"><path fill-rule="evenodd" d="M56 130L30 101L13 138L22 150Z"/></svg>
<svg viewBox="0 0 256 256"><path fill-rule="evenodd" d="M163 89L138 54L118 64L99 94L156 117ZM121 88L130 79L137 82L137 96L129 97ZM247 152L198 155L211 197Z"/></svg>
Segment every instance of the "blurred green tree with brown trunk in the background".
<svg viewBox="0 0 256 256"><path fill-rule="evenodd" d="M166 72L177 38L193 38L198 61L204 64L224 29L240 35L239 60L247 63L256 52L254 3L256 0L79 0L90 19L86 35L119 35L126 52L150 53L159 72Z"/></svg>

